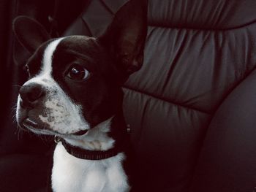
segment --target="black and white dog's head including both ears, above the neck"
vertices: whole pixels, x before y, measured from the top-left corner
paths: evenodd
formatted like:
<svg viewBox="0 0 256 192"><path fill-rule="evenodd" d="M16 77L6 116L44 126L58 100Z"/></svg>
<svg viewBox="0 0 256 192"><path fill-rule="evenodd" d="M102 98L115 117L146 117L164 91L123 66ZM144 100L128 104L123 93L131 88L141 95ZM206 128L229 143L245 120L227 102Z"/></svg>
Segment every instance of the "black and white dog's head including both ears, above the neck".
<svg viewBox="0 0 256 192"><path fill-rule="evenodd" d="M115 115L121 84L143 64L145 2L121 7L99 38L50 39L37 21L16 18L15 34L31 53L29 80L18 96L18 125L38 134L79 135Z"/></svg>

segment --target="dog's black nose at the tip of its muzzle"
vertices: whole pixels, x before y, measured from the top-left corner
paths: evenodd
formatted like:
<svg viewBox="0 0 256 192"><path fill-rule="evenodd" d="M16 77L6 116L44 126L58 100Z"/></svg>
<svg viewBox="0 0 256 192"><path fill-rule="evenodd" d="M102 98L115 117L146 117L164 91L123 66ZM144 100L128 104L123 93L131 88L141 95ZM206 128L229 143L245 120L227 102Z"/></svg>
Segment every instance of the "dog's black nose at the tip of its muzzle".
<svg viewBox="0 0 256 192"><path fill-rule="evenodd" d="M34 107L38 103L38 100L44 95L42 85L37 83L23 85L20 88L20 104L22 107Z"/></svg>

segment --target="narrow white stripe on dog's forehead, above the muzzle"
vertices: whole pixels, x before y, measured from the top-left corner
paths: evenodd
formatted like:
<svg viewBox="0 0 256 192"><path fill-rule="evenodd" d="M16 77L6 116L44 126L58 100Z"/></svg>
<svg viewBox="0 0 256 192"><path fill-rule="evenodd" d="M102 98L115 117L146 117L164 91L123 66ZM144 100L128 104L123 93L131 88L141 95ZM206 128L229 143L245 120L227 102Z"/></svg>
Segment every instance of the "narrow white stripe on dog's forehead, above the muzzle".
<svg viewBox="0 0 256 192"><path fill-rule="evenodd" d="M59 39L54 40L53 42L50 42L49 45L45 48L45 53L42 58L42 73L48 73L50 74L52 72L52 62L53 62L53 53L56 50L56 47L59 45L61 40L64 39L64 37L61 37Z"/></svg>

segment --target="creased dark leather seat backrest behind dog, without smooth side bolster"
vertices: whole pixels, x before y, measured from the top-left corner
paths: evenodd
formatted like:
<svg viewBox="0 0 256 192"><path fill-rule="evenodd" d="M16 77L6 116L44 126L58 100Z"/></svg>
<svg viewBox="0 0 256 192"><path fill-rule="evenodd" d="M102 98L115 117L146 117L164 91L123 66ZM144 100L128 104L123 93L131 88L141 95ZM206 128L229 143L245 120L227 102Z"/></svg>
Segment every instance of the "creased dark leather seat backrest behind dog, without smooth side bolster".
<svg viewBox="0 0 256 192"><path fill-rule="evenodd" d="M92 2L111 18L118 1ZM124 85L144 191L188 191L211 119L255 69L255 8L254 0L148 1L144 64ZM94 28L92 16L84 12L66 35L100 34L107 25Z"/></svg>

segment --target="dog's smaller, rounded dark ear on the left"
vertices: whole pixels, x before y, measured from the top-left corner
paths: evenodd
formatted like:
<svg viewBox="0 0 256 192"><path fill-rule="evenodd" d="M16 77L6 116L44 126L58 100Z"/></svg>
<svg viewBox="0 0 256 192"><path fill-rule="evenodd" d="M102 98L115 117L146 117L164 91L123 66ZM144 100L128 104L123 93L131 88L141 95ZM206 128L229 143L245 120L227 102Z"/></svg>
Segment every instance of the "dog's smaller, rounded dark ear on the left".
<svg viewBox="0 0 256 192"><path fill-rule="evenodd" d="M34 53L37 47L50 39L50 35L45 28L32 18L19 16L13 20L12 24L15 36L29 53Z"/></svg>

